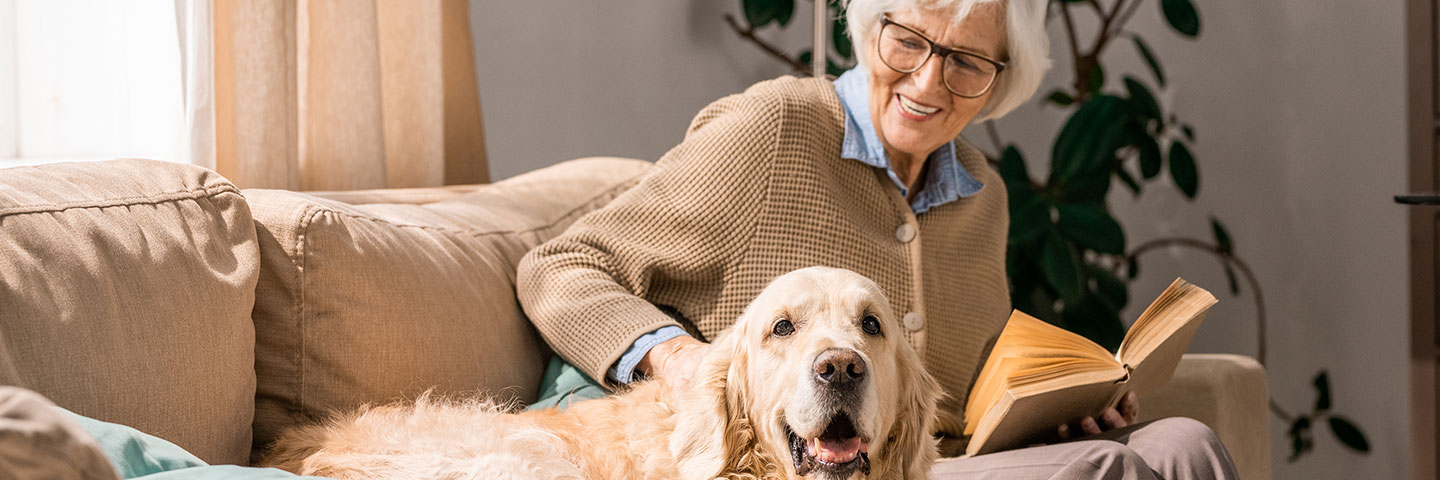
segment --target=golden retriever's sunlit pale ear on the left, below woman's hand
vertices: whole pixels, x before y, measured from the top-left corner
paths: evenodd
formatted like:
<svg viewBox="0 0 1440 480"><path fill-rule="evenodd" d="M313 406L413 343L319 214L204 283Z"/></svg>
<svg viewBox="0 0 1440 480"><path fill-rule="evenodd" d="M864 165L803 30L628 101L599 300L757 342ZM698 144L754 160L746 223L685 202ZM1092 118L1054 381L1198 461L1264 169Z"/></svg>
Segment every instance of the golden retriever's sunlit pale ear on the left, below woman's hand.
<svg viewBox="0 0 1440 480"><path fill-rule="evenodd" d="M710 349L680 398L675 431L670 451L678 464L680 479L714 479L753 443L744 421L744 356L739 355L730 333Z"/></svg>

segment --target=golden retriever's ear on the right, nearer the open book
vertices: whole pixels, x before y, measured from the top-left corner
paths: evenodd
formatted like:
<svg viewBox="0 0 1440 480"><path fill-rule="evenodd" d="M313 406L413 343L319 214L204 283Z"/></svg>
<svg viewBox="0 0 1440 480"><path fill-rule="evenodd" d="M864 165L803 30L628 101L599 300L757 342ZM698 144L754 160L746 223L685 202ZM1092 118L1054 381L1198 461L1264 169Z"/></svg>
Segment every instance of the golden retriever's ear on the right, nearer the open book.
<svg viewBox="0 0 1440 480"><path fill-rule="evenodd" d="M900 415L890 432L890 445L881 464L886 479L929 479L930 466L939 457L933 434L936 405L945 395L940 383L924 370L920 355L909 345L900 347ZM878 477L877 477L878 479Z"/></svg>

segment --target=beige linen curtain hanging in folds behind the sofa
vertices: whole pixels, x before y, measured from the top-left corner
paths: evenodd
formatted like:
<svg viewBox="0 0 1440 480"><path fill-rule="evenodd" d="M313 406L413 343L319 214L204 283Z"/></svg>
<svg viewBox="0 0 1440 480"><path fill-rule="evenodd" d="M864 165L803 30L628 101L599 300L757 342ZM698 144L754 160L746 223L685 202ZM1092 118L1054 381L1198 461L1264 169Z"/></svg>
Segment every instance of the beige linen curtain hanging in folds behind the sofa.
<svg viewBox="0 0 1440 480"><path fill-rule="evenodd" d="M488 182L467 0L213 0L212 10L215 169L238 186ZM192 141L203 147L200 134Z"/></svg>

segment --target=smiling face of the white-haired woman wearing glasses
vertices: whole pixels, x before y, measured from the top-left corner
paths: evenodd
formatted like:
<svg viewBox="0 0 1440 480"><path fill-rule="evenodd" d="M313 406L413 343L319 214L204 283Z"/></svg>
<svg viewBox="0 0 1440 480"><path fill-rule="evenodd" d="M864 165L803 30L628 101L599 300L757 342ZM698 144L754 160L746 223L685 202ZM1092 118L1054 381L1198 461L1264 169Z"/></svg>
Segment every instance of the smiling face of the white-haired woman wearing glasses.
<svg viewBox="0 0 1440 480"><path fill-rule="evenodd" d="M891 12L890 20L923 33L930 40L952 49L976 52L986 58L1002 58L1005 39L1002 9L998 3L976 6L965 22L953 23L948 12ZM876 27L871 35L870 58L870 118L886 153L894 159L923 161L926 156L960 134L975 114L985 107L991 88L978 98L952 95L940 79L940 58L930 56L912 74L900 74L880 61ZM904 108L901 101L906 102Z"/></svg>

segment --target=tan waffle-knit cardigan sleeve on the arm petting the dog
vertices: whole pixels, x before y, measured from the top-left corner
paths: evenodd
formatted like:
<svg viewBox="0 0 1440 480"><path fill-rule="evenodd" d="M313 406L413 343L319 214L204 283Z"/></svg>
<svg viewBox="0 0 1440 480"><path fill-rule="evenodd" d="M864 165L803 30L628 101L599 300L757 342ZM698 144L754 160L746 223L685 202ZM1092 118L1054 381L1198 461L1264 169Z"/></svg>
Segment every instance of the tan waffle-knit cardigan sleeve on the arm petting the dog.
<svg viewBox="0 0 1440 480"><path fill-rule="evenodd" d="M785 101L760 85L701 110L647 179L521 259L526 314L590 378L611 383L605 370L641 334L677 324L655 304L717 297L743 255Z"/></svg>

